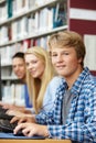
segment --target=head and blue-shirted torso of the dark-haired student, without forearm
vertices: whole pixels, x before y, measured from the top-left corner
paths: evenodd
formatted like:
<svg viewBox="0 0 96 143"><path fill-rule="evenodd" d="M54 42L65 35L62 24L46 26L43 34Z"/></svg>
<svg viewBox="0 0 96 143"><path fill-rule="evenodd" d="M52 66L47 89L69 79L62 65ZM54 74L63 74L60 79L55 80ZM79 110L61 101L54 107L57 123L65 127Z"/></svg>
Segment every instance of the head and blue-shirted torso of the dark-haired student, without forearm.
<svg viewBox="0 0 96 143"><path fill-rule="evenodd" d="M24 53L18 52L12 57L12 69L15 74L15 76L20 79L21 84L24 84L25 89L25 107L31 108L32 103L29 99L28 94L28 86L26 86L26 68L25 68L25 62L24 62Z"/></svg>

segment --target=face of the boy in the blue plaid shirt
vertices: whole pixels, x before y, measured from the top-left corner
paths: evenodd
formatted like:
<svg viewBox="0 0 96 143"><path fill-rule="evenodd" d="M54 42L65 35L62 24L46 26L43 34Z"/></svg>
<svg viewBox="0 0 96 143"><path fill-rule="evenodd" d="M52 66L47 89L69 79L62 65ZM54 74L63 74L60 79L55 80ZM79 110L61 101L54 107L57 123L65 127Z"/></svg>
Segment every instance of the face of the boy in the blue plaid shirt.
<svg viewBox="0 0 96 143"><path fill-rule="evenodd" d="M52 48L52 63L58 75L66 79L77 78L81 73L81 62L74 47Z"/></svg>

